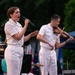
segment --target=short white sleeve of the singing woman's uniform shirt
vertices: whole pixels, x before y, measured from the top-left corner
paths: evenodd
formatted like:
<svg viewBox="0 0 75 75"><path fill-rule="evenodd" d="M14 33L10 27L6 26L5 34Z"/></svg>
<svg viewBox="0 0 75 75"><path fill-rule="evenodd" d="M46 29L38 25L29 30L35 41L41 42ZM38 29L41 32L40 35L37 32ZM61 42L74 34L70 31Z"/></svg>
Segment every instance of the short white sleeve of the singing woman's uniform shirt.
<svg viewBox="0 0 75 75"><path fill-rule="evenodd" d="M6 31L6 33L10 34L11 36L18 33L16 27L11 25L10 23L5 25L5 31Z"/></svg>

